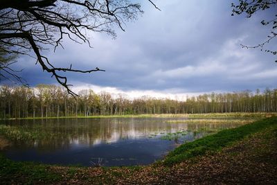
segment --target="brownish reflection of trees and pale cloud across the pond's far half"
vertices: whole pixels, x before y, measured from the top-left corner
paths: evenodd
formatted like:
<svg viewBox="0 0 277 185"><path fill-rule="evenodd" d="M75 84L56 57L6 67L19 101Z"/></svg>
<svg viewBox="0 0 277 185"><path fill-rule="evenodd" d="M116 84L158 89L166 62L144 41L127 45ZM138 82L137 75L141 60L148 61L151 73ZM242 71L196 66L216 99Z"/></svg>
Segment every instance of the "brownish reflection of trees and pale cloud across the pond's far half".
<svg viewBox="0 0 277 185"><path fill-rule="evenodd" d="M34 141L17 145L28 145L41 150L70 148L72 145L97 145L113 143L120 139L139 139L150 134L173 133L180 130L202 131L234 127L231 123L165 123L162 119L101 118L101 119L48 119L11 123L37 136ZM24 125L24 126L23 126ZM195 136L194 136L195 137Z"/></svg>

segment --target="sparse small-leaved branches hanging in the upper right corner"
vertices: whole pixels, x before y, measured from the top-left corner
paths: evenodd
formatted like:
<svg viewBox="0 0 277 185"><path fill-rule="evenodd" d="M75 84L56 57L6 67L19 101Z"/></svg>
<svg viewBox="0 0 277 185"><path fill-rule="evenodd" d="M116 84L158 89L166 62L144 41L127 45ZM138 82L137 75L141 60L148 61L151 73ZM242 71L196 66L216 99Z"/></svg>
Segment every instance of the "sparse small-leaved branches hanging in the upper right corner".
<svg viewBox="0 0 277 185"><path fill-rule="evenodd" d="M277 14L276 14L276 8L277 8L277 1L276 0L239 0L238 4L232 3L233 8L233 15L241 15L242 13L245 13L247 15L247 18L250 18L252 15L254 15L256 12L261 10L268 10L268 9L275 9L274 16L271 17L269 20L262 20L261 24L263 26L270 26L271 31L269 35L267 35L267 39L265 39L264 42L256 45L256 46L246 46L244 44L241 44L242 48L247 49L256 49L260 48L261 51L264 50L264 47L266 44L269 44L273 39L276 39L277 37ZM271 49L265 49L265 52L271 53L273 55L277 54L277 51L272 51ZM277 62L277 60L275 60Z"/></svg>

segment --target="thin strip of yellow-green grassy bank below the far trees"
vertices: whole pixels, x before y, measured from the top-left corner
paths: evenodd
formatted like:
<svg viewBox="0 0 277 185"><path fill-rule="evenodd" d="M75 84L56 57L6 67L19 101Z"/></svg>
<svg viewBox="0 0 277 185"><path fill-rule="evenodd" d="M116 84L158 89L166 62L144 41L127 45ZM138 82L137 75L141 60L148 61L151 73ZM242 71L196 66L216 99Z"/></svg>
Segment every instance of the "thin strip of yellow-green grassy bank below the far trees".
<svg viewBox="0 0 277 185"><path fill-rule="evenodd" d="M99 115L99 116L60 116L60 117L27 117L27 118L0 118L0 120L25 120L25 119L56 119L56 118L260 118L277 116L276 112L257 113L208 113L208 114L125 114L125 115Z"/></svg>

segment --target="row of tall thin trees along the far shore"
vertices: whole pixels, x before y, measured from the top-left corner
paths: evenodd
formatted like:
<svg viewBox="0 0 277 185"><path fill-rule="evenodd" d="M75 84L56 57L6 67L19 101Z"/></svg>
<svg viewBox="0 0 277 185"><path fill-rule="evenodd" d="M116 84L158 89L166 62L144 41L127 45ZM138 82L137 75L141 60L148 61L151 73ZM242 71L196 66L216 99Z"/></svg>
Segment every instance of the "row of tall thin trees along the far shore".
<svg viewBox="0 0 277 185"><path fill-rule="evenodd" d="M61 117L124 114L202 114L224 112L277 112L277 89L211 93L186 100L124 94L94 93L91 89L71 96L64 87L37 85L0 87L0 117Z"/></svg>

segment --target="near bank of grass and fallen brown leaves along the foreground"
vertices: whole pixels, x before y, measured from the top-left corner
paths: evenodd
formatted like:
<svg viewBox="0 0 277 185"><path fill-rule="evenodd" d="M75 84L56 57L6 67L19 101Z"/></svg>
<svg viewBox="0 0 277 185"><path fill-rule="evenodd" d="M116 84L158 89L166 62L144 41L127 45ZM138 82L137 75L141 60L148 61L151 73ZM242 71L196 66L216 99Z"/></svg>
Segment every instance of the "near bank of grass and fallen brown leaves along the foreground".
<svg viewBox="0 0 277 185"><path fill-rule="evenodd" d="M271 180L269 183L272 184L276 183L274 182L277 172L276 144L277 117L271 117L185 143L170 152L162 161L150 166L114 168L50 166L11 161L0 155L0 182L3 184L184 184L184 180L186 183L201 183L199 180L203 180L211 184L220 181L223 184L231 182L237 184L244 181L252 182L254 179L260 183ZM257 169L260 172L257 172Z"/></svg>

